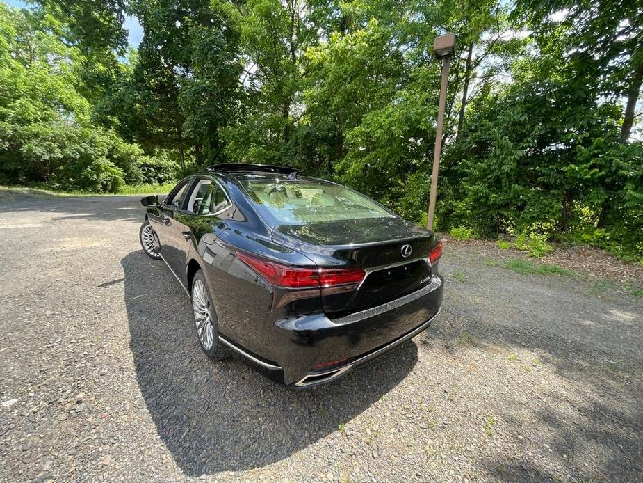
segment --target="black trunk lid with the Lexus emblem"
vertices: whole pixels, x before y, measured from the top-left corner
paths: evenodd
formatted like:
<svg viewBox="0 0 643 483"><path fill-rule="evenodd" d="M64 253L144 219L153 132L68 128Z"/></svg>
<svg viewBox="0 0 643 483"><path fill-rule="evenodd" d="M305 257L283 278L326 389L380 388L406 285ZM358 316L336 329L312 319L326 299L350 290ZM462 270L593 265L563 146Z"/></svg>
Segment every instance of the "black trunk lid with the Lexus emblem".
<svg viewBox="0 0 643 483"><path fill-rule="evenodd" d="M359 267L366 271L358 287L322 287L323 308L331 318L398 299L419 290L431 277L424 259L434 236L397 216L280 225L277 232L297 242L297 248L318 267Z"/></svg>

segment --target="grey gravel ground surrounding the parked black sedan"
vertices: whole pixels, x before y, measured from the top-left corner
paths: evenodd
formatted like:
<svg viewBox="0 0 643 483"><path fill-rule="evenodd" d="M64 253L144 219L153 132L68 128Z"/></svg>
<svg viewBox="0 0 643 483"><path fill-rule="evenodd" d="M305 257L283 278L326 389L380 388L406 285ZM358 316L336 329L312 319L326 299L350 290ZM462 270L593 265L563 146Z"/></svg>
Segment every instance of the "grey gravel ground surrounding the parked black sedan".
<svg viewBox="0 0 643 483"><path fill-rule="evenodd" d="M632 290L448 243L428 332L293 390L202 355L142 219L133 197L0 200L0 480L640 481Z"/></svg>

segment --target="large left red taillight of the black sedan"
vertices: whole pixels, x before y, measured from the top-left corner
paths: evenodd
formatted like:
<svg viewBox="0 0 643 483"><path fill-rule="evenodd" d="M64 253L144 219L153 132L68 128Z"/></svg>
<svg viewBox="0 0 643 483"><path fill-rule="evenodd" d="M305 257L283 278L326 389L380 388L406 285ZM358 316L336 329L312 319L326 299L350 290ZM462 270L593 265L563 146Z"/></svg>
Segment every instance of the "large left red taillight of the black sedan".
<svg viewBox="0 0 643 483"><path fill-rule="evenodd" d="M275 262L268 262L247 253L238 252L239 260L257 271L272 285L286 288L336 287L360 283L366 272L363 269L317 269L287 267Z"/></svg>

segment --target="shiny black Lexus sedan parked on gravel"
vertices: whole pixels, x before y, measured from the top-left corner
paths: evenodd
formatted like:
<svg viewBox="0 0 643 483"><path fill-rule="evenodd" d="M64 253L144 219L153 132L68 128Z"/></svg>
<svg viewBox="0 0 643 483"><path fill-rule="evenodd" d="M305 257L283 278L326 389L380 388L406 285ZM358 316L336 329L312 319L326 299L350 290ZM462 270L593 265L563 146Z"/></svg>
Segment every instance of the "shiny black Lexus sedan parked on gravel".
<svg viewBox="0 0 643 483"><path fill-rule="evenodd" d="M210 358L236 351L273 379L314 386L421 333L440 310L439 239L339 184L218 164L141 203L141 245L191 297Z"/></svg>

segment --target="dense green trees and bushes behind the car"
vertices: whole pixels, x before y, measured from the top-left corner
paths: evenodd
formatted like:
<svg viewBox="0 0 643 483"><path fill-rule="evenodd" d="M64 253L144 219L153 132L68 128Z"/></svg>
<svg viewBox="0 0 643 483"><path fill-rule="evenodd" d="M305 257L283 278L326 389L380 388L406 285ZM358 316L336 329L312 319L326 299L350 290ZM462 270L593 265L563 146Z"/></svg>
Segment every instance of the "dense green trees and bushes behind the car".
<svg viewBox="0 0 643 483"><path fill-rule="evenodd" d="M444 31L437 227L643 257L643 7L628 0L0 3L0 176L117 191L291 164L423 221Z"/></svg>

